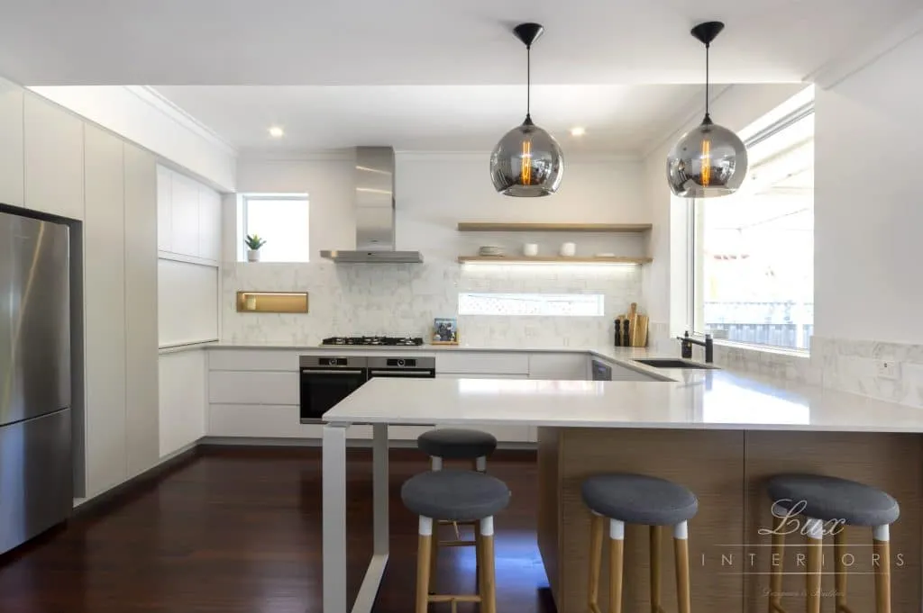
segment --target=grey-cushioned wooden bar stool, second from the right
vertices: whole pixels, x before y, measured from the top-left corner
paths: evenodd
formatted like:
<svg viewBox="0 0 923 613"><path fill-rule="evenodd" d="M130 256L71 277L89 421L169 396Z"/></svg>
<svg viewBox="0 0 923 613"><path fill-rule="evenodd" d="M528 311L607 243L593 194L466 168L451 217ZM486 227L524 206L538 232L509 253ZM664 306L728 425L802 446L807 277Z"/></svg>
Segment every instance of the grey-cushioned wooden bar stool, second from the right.
<svg viewBox="0 0 923 613"><path fill-rule="evenodd" d="M660 604L660 526L673 526L679 613L689 613L689 526L699 501L689 489L656 477L631 474L596 475L583 481L583 503L593 512L590 525L589 608L599 609L599 573L603 559L603 518L609 519L609 613L622 610L622 565L625 525L651 526L651 610Z"/></svg>

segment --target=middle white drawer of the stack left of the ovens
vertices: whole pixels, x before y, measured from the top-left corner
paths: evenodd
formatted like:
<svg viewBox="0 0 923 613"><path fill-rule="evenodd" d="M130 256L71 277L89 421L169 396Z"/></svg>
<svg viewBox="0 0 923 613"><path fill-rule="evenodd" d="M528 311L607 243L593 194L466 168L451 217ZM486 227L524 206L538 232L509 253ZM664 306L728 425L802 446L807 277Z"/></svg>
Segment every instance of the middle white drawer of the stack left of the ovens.
<svg viewBox="0 0 923 613"><path fill-rule="evenodd" d="M209 402L213 404L297 406L299 394L297 372L209 372Z"/></svg>

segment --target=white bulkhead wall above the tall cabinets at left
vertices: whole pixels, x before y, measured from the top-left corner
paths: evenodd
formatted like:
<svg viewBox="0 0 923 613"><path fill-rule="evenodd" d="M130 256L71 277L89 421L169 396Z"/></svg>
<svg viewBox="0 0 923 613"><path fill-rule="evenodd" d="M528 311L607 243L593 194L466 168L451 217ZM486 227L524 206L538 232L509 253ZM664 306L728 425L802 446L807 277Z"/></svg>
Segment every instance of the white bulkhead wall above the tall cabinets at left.
<svg viewBox="0 0 923 613"><path fill-rule="evenodd" d="M213 187L234 191L236 153L168 101L137 86L42 86L48 100L124 136L198 175Z"/></svg>

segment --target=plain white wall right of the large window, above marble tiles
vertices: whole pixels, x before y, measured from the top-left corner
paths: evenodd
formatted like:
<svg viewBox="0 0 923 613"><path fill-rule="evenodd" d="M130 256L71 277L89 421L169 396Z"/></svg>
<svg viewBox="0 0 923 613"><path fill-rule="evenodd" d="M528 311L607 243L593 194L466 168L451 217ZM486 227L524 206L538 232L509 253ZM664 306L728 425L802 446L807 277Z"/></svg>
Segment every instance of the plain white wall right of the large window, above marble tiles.
<svg viewBox="0 0 923 613"><path fill-rule="evenodd" d="M816 92L816 336L923 344L921 65L923 33Z"/></svg>

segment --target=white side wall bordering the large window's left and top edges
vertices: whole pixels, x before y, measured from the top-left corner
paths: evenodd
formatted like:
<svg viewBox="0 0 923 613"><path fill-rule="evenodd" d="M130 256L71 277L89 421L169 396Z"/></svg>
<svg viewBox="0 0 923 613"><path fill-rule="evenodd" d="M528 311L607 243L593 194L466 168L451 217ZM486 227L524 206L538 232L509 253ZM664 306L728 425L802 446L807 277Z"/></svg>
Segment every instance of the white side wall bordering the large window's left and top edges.
<svg viewBox="0 0 923 613"><path fill-rule="evenodd" d="M741 136L766 113L804 89L804 84L734 85L713 98L713 120ZM643 293L650 306L651 321L678 334L687 324L687 203L670 193L666 184L666 156L687 130L701 123L704 100L685 123L665 137L644 159L643 189L653 221L650 251L653 264L645 271ZM748 130L749 128L749 130ZM667 326L670 328L667 331Z"/></svg>

